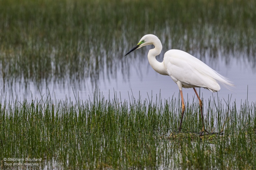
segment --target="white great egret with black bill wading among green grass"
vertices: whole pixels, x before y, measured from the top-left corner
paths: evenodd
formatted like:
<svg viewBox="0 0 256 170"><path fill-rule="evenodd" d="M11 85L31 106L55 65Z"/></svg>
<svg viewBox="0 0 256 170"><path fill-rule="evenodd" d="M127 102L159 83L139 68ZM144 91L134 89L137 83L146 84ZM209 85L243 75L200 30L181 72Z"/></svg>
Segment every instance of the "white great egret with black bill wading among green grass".
<svg viewBox="0 0 256 170"><path fill-rule="evenodd" d="M170 76L172 80L178 85L178 88L180 90L182 112L179 124L179 133L181 130L183 114L185 111L184 99L182 94L183 87L194 89L199 100L201 119L203 125L202 133L208 133L204 126L202 100L199 98L195 88L203 87L205 89L210 90L211 92L216 92L220 90L218 82L226 86L234 85L227 78L223 77L222 75L214 71L201 60L181 50L169 50L165 52L164 60L162 62L157 61L155 59L155 56L161 53L162 43L158 39L158 37L153 34L144 35L139 41L139 43L135 47L133 47L132 50L127 52L125 56L136 49L151 44L153 44L155 48L149 50L148 52L149 64L156 72L162 75Z"/></svg>

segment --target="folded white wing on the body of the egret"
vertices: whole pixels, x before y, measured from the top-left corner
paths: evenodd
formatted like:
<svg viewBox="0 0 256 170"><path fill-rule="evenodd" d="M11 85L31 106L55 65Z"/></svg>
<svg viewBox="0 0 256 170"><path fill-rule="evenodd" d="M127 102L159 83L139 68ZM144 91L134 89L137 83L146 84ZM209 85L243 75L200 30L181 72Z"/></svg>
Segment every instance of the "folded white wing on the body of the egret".
<svg viewBox="0 0 256 170"><path fill-rule="evenodd" d="M164 63L168 74L174 81L180 81L184 88L203 87L219 91L216 81L218 73L204 62L181 50L165 53Z"/></svg>

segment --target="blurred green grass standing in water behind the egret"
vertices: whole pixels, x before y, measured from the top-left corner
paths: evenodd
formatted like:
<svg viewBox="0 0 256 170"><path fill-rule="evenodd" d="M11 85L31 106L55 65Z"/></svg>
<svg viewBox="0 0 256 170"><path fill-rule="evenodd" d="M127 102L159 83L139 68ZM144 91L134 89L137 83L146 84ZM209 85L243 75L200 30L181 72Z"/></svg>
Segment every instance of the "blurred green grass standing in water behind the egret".
<svg viewBox="0 0 256 170"><path fill-rule="evenodd" d="M3 88L93 83L115 77L119 68L125 77L126 63L142 59L121 56L148 33L160 38L164 51L199 52L201 60L213 61L221 55L227 63L242 58L255 68L255 8L253 0L1 0Z"/></svg>

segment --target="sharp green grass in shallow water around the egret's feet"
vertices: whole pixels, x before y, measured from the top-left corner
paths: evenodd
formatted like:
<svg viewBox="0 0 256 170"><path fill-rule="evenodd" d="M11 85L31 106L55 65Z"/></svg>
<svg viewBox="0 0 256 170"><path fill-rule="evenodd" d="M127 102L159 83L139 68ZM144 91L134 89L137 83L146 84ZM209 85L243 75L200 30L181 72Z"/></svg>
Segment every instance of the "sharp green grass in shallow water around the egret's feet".
<svg viewBox="0 0 256 170"><path fill-rule="evenodd" d="M163 102L162 102L163 101ZM208 130L199 137L198 103L187 103L178 134L179 99L152 101L34 99L0 106L0 167L4 158L42 158L58 169L253 169L256 166L255 103L208 101ZM213 123L214 122L214 123ZM224 126L223 126L224 125ZM22 161L21 161L22 163ZM25 161L23 162L25 163Z"/></svg>

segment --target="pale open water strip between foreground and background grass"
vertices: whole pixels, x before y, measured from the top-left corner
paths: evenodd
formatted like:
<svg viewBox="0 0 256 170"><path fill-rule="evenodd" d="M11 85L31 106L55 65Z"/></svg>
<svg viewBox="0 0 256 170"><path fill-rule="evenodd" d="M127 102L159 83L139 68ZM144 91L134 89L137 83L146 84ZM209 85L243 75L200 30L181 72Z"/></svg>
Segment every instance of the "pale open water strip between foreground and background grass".
<svg viewBox="0 0 256 170"><path fill-rule="evenodd" d="M124 51L125 53L126 51ZM161 94L162 99L171 99L172 97L179 97L179 90L174 81L169 76L163 76L155 72L147 61L146 51L137 50L132 55L138 57L133 62L127 62L129 70L122 71L122 67L118 67L115 77L109 77L107 72L103 72L95 82L91 78L84 78L83 80L67 79L61 83L56 81L42 82L40 87L33 82L29 82L26 86L16 83L12 90L2 90L2 100L18 98L23 100L31 98L47 97L48 94L52 99L65 99L66 97L71 101L76 98L87 100L93 98L95 90L99 90L106 99L113 99L115 94L117 98L128 100L132 95L139 99L159 99ZM194 54L199 56L200 54ZM129 57L129 56L126 56ZM133 56L132 56L133 57ZM143 58L141 60L140 58ZM158 57L161 61L161 56ZM221 75L229 78L234 88L227 89L221 85L221 90L217 93L212 93L209 90L200 89L200 95L205 101L208 98L218 98L222 100L230 100L243 103L248 100L249 103L256 101L256 71L255 68L250 67L250 62L242 60L241 58L234 58L230 56L231 60L226 63L221 57L211 61L209 57L204 58L204 62L211 68L218 71ZM109 78L108 78L109 77ZM185 101L192 100L195 97L192 89L183 89ZM4 95L3 95L4 94ZM31 97L32 94L32 97Z"/></svg>

